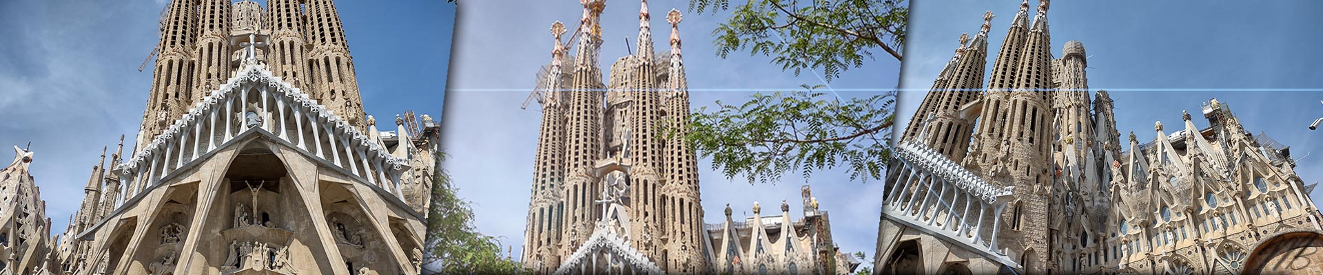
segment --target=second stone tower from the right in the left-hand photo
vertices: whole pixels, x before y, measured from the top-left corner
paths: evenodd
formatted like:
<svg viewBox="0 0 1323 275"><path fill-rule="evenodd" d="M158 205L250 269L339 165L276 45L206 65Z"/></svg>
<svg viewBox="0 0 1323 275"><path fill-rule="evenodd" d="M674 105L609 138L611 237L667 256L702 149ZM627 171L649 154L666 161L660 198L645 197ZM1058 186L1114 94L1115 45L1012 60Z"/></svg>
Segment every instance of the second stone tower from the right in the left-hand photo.
<svg viewBox="0 0 1323 275"><path fill-rule="evenodd" d="M321 98L310 89L307 40L303 37L303 12L299 9L299 0L267 0L266 1L267 34L271 36L271 53L267 66L271 73L292 83L303 93L314 98ZM339 114L339 112L337 112Z"/></svg>

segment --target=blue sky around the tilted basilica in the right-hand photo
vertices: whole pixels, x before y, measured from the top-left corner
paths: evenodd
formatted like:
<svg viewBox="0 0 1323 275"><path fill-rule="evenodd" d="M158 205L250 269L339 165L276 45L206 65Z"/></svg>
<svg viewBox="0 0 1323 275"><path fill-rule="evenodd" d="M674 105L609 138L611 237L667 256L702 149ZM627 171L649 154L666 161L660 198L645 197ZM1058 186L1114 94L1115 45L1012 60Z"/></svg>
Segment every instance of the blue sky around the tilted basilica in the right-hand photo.
<svg viewBox="0 0 1323 275"><path fill-rule="evenodd" d="M1036 7L1037 1L1031 1ZM910 13L906 62L901 71L897 116L908 124L933 78L951 58L960 33L979 30L992 11L988 50L1000 49L1019 1L917 1ZM1195 126L1207 127L1203 102L1229 103L1241 123L1290 145L1306 184L1323 180L1323 132L1308 123L1323 116L1323 37L1319 1L1053 1L1048 11L1052 52L1084 42L1089 54L1089 87L1107 90L1115 100L1122 140L1134 131L1152 141L1154 122L1166 132L1184 128L1181 110ZM1032 15L1033 11L1031 11ZM988 58L991 65L995 57ZM1303 159L1302 159L1303 157ZM1323 189L1311 197L1323 198Z"/></svg>

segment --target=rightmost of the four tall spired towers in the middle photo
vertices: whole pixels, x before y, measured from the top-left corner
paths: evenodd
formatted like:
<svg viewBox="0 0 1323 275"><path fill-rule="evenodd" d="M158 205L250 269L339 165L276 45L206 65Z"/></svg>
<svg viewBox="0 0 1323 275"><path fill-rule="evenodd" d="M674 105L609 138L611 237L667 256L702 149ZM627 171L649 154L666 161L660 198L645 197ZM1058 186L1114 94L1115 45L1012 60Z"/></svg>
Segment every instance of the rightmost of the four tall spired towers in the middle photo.
<svg viewBox="0 0 1323 275"><path fill-rule="evenodd" d="M680 11L667 13L671 22L671 66L665 85L665 122L673 136L665 139L665 185L662 188L660 216L667 225L665 246L660 266L668 272L696 274L708 271L708 260L696 243L703 243L703 204L699 196L697 156L684 141L689 131L689 85L680 58Z"/></svg>

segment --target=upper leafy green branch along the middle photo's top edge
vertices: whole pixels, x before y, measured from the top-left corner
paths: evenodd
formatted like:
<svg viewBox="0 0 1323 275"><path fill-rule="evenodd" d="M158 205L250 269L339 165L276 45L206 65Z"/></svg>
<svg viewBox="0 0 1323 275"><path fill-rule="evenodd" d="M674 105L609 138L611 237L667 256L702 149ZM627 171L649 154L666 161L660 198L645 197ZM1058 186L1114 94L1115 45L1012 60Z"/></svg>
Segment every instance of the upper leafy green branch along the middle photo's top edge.
<svg viewBox="0 0 1323 275"><path fill-rule="evenodd" d="M733 8L733 9L732 9ZM827 81L881 49L897 61L905 42L908 0L689 0L697 13L732 11L712 30L717 56L747 50L782 70L822 70Z"/></svg>

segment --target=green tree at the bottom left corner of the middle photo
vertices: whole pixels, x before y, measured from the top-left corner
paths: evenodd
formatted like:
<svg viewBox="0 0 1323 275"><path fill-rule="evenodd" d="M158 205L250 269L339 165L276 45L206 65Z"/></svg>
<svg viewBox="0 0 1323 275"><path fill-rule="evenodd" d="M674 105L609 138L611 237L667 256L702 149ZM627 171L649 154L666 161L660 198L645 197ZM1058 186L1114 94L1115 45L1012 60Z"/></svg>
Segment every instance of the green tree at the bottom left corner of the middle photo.
<svg viewBox="0 0 1323 275"><path fill-rule="evenodd" d="M456 196L458 188L441 168L445 153L437 153L433 176L431 210L427 214L425 272L435 274L528 274L519 262L501 256L500 241L474 226L474 210Z"/></svg>

